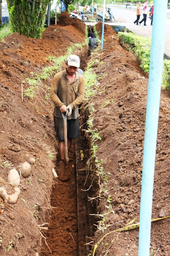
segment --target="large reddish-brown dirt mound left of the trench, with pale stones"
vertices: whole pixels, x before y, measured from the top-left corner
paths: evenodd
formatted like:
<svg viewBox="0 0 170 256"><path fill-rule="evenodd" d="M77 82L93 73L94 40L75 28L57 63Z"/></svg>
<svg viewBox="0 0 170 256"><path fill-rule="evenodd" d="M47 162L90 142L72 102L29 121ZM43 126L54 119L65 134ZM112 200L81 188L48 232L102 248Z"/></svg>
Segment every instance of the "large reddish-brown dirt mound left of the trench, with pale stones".
<svg viewBox="0 0 170 256"><path fill-rule="evenodd" d="M0 197L2 256L34 256L35 251L39 252L40 229L37 225L45 223L46 217L52 214L49 198L55 166L51 159L56 157L57 143L53 104L46 96L53 75L42 82L43 86L38 81L33 100L24 98L21 102L21 83L25 78L41 74L46 66L52 66L47 57L66 54L66 48L77 42L76 38L83 42L84 30L76 30L72 25L63 28L55 25L47 28L42 39L14 33L0 41L0 187L13 194L14 186L7 180L9 170L16 168L19 172L19 164L35 159L30 175L20 176L17 203L9 204ZM23 85L24 92L29 86Z"/></svg>

